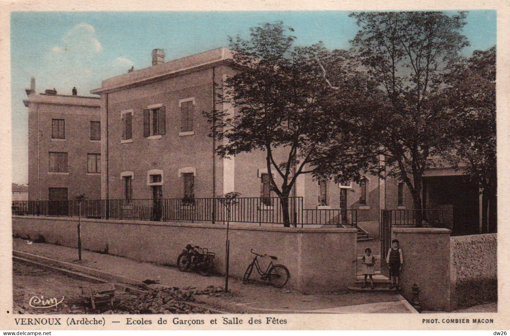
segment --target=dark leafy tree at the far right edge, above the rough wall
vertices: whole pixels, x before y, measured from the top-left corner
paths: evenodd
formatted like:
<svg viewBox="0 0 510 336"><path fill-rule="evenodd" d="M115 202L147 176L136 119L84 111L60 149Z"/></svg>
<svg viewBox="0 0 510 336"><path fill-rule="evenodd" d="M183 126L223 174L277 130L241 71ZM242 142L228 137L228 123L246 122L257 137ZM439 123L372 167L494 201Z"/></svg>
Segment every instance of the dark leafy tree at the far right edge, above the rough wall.
<svg viewBox="0 0 510 336"><path fill-rule="evenodd" d="M479 186L482 232L496 232L496 46L463 59L445 83L442 105L455 114L455 146L444 157Z"/></svg>

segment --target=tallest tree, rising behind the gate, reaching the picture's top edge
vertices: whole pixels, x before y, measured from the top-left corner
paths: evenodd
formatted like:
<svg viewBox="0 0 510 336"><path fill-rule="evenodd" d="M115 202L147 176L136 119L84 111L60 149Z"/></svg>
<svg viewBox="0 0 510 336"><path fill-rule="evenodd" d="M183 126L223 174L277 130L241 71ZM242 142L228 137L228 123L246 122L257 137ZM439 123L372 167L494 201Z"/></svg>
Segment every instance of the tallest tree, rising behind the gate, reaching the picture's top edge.
<svg viewBox="0 0 510 336"><path fill-rule="evenodd" d="M371 155L384 155L386 174L405 182L422 209L423 172L452 145L452 111L437 106L442 75L469 45L466 14L351 13L362 29L351 41L374 85L376 108L361 110L354 132ZM380 166L374 168L380 171ZM418 211L418 214L420 211ZM421 225L421 217L417 219Z"/></svg>

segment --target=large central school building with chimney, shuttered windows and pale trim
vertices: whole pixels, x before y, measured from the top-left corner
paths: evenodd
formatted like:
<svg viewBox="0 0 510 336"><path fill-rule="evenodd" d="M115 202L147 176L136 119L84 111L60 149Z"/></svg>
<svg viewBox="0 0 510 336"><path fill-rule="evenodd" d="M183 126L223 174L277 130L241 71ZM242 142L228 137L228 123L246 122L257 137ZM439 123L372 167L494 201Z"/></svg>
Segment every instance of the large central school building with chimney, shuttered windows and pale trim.
<svg viewBox="0 0 510 336"><path fill-rule="evenodd" d="M225 76L234 74L230 57L230 51L220 48L164 62L164 53L154 50L151 67L104 80L91 91L101 95L102 199L186 200L231 191L242 197L275 197L264 152L224 159L214 155L202 112L215 108L234 113L215 99ZM275 181L281 182L279 176ZM301 208L358 209L359 221L377 221L381 204L394 202L396 207L398 202L398 190L384 186L373 176L342 186L303 175L291 196L303 197ZM405 189L400 189L402 195ZM400 206L409 207L409 200L408 195L400 197Z"/></svg>

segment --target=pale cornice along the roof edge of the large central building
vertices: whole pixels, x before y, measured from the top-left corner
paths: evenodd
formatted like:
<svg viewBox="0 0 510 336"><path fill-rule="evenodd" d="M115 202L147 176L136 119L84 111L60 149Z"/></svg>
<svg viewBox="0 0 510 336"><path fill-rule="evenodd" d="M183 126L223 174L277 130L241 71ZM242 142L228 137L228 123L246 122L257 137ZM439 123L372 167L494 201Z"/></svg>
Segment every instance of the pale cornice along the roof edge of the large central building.
<svg viewBox="0 0 510 336"><path fill-rule="evenodd" d="M187 72L208 68L218 63L221 64L231 58L232 52L221 47L106 79L103 81L100 88L93 89L90 93L100 94L135 87L165 78L179 76Z"/></svg>

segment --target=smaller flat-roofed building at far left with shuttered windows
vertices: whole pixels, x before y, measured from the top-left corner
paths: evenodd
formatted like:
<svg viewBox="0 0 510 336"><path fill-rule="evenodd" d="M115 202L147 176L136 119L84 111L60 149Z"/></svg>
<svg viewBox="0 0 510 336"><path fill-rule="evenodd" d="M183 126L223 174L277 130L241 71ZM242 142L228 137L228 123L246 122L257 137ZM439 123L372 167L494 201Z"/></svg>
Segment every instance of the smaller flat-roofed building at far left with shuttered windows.
<svg viewBox="0 0 510 336"><path fill-rule="evenodd" d="M23 100L29 109L29 200L100 198L101 124L99 98L35 92L35 79Z"/></svg>

